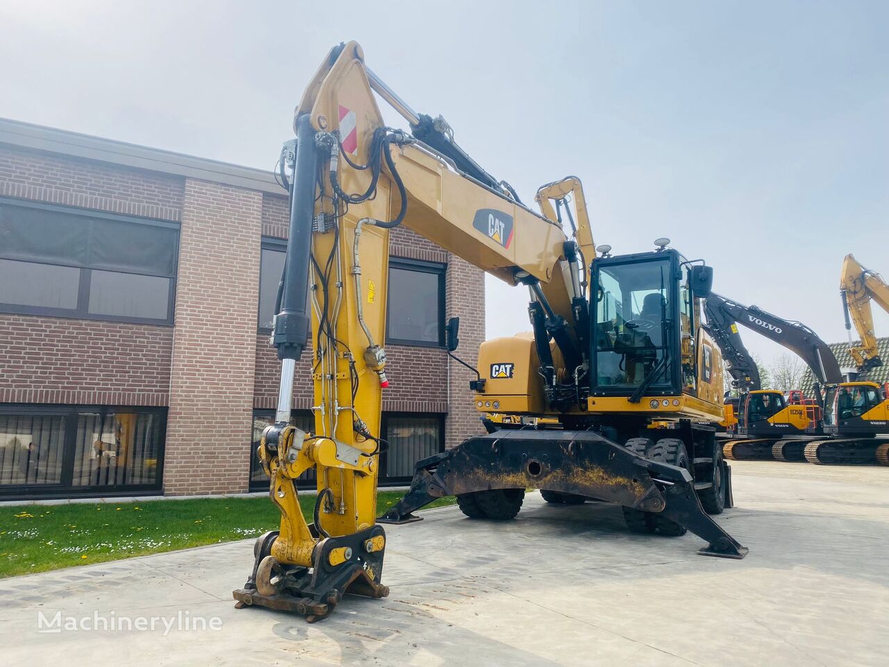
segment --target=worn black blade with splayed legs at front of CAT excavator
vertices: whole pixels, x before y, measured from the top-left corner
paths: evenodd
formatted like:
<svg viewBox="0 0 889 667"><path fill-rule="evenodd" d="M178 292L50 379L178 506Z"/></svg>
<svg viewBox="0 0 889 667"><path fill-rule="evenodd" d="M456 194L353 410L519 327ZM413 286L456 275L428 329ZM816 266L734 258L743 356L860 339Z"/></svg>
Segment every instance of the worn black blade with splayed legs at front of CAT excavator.
<svg viewBox="0 0 889 667"><path fill-rule="evenodd" d="M747 555L703 510L688 470L632 454L591 431L497 430L469 438L417 462L407 494L377 520L417 520L414 510L445 495L528 487L657 512L708 542L703 556Z"/></svg>

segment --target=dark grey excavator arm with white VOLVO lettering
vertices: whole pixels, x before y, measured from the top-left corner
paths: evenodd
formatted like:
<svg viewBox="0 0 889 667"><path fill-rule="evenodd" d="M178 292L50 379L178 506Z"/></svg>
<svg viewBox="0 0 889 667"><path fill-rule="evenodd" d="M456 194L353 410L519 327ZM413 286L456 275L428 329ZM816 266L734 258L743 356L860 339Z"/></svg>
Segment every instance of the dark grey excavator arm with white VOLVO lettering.
<svg viewBox="0 0 889 667"><path fill-rule="evenodd" d="M704 309L711 333L717 337L720 344L725 339L730 345L730 353L726 357L731 358L731 350L738 350L737 343L740 342L741 337L738 335L737 326L735 325L737 323L746 326L751 331L764 335L769 340L777 342L782 347L797 354L812 369L813 374L821 384L837 384L843 381L843 374L840 371L837 358L830 351L828 344L823 342L812 329L801 322L793 322L783 317L778 317L761 308L757 308L757 306L745 306L738 301L726 299L717 293L710 293L704 304ZM727 329L725 328L726 326ZM741 348L743 348L742 343ZM746 350L743 351L746 352ZM749 358L749 355L747 355L747 358ZM756 366L755 363L752 363L752 359L750 359L750 363L752 366ZM757 388L752 387L751 389Z"/></svg>

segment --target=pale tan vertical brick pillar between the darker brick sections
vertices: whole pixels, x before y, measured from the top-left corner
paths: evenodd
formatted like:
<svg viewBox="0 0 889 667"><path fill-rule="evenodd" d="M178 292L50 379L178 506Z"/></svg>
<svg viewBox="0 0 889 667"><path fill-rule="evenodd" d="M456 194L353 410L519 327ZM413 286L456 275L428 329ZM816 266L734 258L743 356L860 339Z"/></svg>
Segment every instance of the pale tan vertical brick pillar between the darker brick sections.
<svg viewBox="0 0 889 667"><path fill-rule="evenodd" d="M259 192L186 181L165 494L247 490L261 221Z"/></svg>

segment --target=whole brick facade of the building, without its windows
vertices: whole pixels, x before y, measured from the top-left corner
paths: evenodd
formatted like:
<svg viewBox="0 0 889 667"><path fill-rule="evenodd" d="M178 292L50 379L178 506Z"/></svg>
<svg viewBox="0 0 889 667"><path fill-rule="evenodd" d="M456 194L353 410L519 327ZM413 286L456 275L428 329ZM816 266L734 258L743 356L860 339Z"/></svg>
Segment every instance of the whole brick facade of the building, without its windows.
<svg viewBox="0 0 889 667"><path fill-rule="evenodd" d="M260 235L287 236L286 197L6 145L0 197L182 225L175 328L0 314L0 402L170 406L165 493L246 490L252 407L276 406L279 375L256 334ZM447 314L461 317L471 363L484 338L481 272L405 228L390 253L448 265ZM448 446L478 430L471 374L445 350L387 351L384 410L448 413ZM300 409L312 403L309 365L298 366Z"/></svg>

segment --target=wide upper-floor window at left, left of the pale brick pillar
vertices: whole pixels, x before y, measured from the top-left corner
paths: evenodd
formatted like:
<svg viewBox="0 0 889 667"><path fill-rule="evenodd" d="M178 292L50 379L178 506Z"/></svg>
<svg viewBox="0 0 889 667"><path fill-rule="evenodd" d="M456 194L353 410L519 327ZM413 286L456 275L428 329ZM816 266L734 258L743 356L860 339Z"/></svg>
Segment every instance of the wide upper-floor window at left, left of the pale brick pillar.
<svg viewBox="0 0 889 667"><path fill-rule="evenodd" d="M172 324L179 228L0 198L0 311Z"/></svg>

